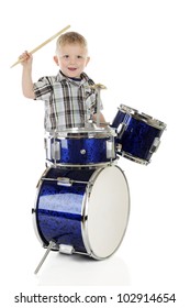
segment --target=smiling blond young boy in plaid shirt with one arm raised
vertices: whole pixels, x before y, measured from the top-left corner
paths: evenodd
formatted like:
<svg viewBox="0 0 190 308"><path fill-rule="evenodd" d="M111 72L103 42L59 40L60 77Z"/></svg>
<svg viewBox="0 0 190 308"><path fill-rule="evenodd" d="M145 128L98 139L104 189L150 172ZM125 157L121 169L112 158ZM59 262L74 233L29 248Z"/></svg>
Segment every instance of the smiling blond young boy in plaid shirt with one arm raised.
<svg viewBox="0 0 190 308"><path fill-rule="evenodd" d="M85 128L90 120L96 121L98 92L93 80L83 73L90 57L87 41L81 34L67 32L58 37L54 56L59 67L57 76L45 76L33 82L32 55L25 52L20 59L23 95L45 102L47 132ZM100 123L105 122L101 112L99 118Z"/></svg>

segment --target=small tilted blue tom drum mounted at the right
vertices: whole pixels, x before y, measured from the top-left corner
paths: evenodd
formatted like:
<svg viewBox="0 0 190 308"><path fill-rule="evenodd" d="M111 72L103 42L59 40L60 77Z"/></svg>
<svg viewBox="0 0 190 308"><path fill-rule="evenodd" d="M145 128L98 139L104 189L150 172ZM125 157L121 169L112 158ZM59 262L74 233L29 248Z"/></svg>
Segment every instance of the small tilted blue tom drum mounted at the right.
<svg viewBox="0 0 190 308"><path fill-rule="evenodd" d="M158 148L166 124L136 109L121 105L112 123L118 129L116 153L147 165Z"/></svg>

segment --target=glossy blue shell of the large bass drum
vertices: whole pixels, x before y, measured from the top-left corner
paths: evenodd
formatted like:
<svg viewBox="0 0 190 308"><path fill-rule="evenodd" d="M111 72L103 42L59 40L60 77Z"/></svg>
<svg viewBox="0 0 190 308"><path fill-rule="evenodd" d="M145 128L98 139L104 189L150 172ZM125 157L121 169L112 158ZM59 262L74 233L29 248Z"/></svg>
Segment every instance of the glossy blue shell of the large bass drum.
<svg viewBox="0 0 190 308"><path fill-rule="evenodd" d="M78 178L76 169L49 168L45 178ZM80 173L80 180L88 182L93 169ZM86 252L82 234L81 205L86 191L85 184L71 186L58 185L56 180L43 180L36 200L36 226L41 240L45 245L54 240L58 245L74 245L77 251ZM62 235L63 234L63 235Z"/></svg>

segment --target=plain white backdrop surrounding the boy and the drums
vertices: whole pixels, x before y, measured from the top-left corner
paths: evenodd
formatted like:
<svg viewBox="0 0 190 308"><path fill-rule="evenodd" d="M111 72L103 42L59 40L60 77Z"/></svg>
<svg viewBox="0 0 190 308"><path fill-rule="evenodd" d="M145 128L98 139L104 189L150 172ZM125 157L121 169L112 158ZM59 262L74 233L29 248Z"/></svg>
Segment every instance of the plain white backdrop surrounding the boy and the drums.
<svg viewBox="0 0 190 308"><path fill-rule="evenodd" d="M118 293L175 293L176 307L188 307L189 1L7 0L0 14L2 300L14 307L21 292L107 294L115 300ZM123 103L164 121L167 131L148 166L119 161L130 185L131 217L118 252L103 262L51 253L34 276L44 254L31 215L45 169L44 106L23 98L21 66L10 66L68 24L89 42L87 74L108 87L107 120ZM55 41L34 55L34 80L57 73L54 50Z"/></svg>

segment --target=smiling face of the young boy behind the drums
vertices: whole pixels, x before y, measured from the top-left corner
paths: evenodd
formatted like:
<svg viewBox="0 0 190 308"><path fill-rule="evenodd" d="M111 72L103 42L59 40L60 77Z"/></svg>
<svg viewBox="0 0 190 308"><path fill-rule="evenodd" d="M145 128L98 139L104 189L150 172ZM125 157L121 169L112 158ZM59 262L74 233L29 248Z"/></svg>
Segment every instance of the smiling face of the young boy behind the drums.
<svg viewBox="0 0 190 308"><path fill-rule="evenodd" d="M79 44L67 44L59 47L54 61L65 76L80 78L90 58L85 47Z"/></svg>

